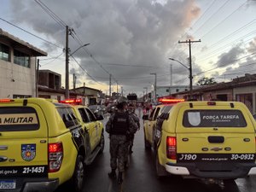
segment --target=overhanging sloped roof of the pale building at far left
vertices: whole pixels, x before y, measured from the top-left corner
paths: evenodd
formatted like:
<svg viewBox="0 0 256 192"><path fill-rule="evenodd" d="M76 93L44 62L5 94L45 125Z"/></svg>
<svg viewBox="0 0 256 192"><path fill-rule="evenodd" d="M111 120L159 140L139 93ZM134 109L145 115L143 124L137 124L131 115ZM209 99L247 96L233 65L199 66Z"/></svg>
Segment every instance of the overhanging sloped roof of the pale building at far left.
<svg viewBox="0 0 256 192"><path fill-rule="evenodd" d="M15 36L9 34L8 32L4 32L3 29L0 28L0 41L6 41L12 45L14 49L18 49L23 53L26 53L30 56L47 56L47 53L44 50L38 49L34 47L32 44L28 44L27 42L21 40L20 38L16 38Z"/></svg>

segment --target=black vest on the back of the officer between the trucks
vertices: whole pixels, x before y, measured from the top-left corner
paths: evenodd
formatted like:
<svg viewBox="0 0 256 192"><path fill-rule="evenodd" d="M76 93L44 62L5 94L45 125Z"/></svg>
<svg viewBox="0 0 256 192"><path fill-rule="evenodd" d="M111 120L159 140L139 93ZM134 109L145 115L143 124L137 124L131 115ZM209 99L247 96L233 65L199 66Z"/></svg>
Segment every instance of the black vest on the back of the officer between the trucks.
<svg viewBox="0 0 256 192"><path fill-rule="evenodd" d="M129 114L117 112L114 114L110 133L113 135L126 135L129 127Z"/></svg>

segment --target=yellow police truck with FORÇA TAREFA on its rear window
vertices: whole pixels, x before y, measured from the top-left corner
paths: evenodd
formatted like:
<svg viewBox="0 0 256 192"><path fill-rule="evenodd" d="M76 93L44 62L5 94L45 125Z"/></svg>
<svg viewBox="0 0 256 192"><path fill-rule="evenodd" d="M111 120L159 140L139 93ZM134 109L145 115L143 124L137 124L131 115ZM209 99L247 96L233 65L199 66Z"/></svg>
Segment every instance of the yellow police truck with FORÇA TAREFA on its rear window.
<svg viewBox="0 0 256 192"><path fill-rule="evenodd" d="M211 181L256 174L255 128L241 102L177 103L156 131L156 173Z"/></svg>

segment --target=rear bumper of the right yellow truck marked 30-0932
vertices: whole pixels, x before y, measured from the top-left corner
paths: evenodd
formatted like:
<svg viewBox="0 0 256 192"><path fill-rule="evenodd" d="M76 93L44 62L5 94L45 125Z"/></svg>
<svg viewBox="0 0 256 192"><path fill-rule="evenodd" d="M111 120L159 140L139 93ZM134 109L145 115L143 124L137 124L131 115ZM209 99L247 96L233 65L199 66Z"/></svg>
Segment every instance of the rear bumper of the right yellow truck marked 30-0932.
<svg viewBox="0 0 256 192"><path fill-rule="evenodd" d="M231 179L256 175L254 163L230 163L230 164L195 164L195 163L166 163L166 172L174 175L202 178Z"/></svg>

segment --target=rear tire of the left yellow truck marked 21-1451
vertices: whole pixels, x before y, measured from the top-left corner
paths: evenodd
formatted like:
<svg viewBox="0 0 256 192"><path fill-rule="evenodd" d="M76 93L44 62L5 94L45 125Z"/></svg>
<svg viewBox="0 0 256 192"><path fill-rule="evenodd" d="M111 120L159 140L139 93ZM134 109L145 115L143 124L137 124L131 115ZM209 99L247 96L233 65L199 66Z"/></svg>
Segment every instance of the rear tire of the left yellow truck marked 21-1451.
<svg viewBox="0 0 256 192"><path fill-rule="evenodd" d="M76 160L71 185L75 192L81 192L84 187L84 157L80 154Z"/></svg>

